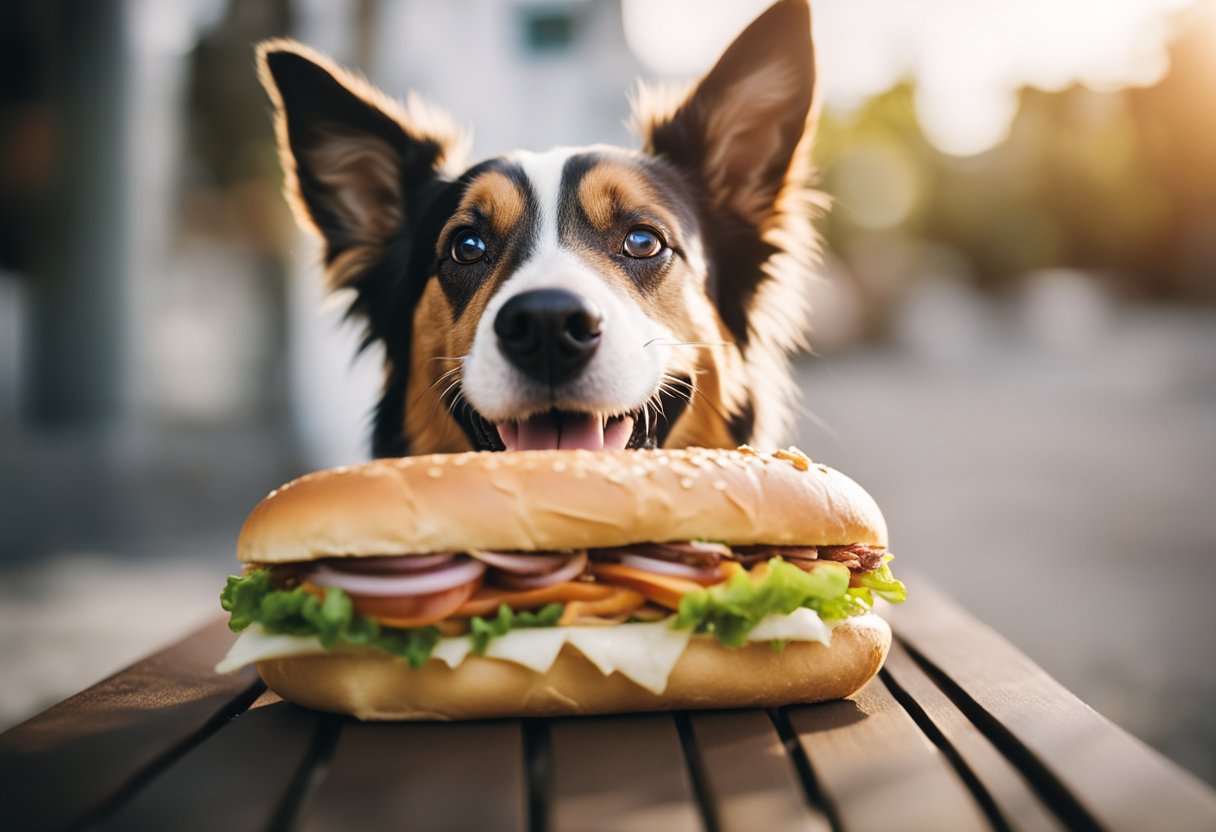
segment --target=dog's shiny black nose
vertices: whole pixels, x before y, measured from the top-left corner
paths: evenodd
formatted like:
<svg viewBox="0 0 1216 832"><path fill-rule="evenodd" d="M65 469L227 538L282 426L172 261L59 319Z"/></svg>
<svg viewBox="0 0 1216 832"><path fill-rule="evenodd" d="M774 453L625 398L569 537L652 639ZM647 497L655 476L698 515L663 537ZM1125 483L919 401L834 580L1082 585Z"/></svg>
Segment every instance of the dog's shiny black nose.
<svg viewBox="0 0 1216 832"><path fill-rule="evenodd" d="M587 365L599 345L603 316L567 289L520 292L494 319L502 354L528 376L561 384Z"/></svg>

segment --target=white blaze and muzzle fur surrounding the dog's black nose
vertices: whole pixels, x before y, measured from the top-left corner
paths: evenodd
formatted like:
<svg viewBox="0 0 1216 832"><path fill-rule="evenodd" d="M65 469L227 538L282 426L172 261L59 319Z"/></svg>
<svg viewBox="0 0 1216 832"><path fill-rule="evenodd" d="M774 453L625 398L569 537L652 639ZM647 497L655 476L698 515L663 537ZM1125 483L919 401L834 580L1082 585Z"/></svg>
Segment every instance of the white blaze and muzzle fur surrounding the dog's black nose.
<svg viewBox="0 0 1216 832"><path fill-rule="evenodd" d="M592 264L561 243L558 209L562 169L567 159L586 148L557 148L546 153L519 153L537 207L537 229L531 255L520 264L486 305L478 321L473 348L465 359L463 392L469 404L491 421L518 420L558 407L602 415L641 407L663 376L671 341L666 327L652 320L624 292L614 289ZM603 314L599 348L586 370L558 390L550 390L519 372L499 349L494 319L507 300L539 288L564 288L591 300ZM655 343L658 342L658 343Z"/></svg>

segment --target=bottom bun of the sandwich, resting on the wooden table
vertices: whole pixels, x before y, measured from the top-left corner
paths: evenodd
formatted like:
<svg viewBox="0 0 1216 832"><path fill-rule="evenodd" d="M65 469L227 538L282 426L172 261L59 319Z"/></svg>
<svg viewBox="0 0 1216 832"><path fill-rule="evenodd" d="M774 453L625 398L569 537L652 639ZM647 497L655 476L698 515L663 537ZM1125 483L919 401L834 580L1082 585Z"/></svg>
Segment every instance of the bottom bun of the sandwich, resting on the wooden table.
<svg viewBox="0 0 1216 832"><path fill-rule="evenodd" d="M772 708L856 692L883 667L890 645L890 628L874 614L839 624L831 647L794 641L781 651L767 643L728 650L694 637L663 693L619 673L604 676L570 645L544 674L479 656L455 669L439 660L410 668L373 650L268 659L258 663L258 671L288 702L365 720Z"/></svg>

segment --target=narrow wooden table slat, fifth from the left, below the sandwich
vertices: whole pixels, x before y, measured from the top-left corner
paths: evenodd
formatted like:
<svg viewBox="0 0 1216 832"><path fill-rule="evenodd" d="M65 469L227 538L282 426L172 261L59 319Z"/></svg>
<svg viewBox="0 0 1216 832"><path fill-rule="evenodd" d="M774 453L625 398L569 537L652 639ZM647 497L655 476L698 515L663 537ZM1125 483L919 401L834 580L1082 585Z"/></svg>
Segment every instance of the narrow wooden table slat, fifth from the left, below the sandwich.
<svg viewBox="0 0 1216 832"><path fill-rule="evenodd" d="M710 712L689 721L721 832L831 832L767 713Z"/></svg>

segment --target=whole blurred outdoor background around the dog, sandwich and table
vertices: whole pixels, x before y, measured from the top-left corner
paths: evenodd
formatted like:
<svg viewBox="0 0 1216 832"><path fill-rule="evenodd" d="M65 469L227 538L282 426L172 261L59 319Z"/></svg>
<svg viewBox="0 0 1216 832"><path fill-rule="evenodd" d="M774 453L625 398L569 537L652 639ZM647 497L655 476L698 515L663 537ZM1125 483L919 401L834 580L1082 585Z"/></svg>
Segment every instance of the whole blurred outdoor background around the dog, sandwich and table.
<svg viewBox="0 0 1216 832"><path fill-rule="evenodd" d="M378 356L280 197L255 41L486 156L634 145L635 78L765 5L0 0L0 727L214 615L252 505L367 455ZM1216 783L1216 2L814 10L834 208L792 439L901 574Z"/></svg>

